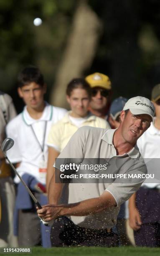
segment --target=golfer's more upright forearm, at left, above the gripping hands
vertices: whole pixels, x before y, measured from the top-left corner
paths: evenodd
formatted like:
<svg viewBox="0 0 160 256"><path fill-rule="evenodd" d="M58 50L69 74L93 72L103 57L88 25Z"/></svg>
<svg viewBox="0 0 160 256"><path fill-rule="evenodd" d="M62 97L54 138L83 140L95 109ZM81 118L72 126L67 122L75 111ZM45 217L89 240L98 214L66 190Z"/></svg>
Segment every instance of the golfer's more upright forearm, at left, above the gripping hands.
<svg viewBox="0 0 160 256"><path fill-rule="evenodd" d="M49 189L48 189L48 201L50 204L57 205L59 203L62 189L63 189L63 184L55 182L55 171L54 171L54 174L53 174L53 177L51 178L51 182L49 184Z"/></svg>

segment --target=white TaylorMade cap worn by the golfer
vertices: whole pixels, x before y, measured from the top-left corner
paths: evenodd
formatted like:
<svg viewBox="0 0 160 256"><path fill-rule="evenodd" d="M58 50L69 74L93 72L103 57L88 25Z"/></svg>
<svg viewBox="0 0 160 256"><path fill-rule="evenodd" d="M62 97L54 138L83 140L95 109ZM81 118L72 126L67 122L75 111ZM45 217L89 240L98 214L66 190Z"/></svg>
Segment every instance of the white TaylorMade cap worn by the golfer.
<svg viewBox="0 0 160 256"><path fill-rule="evenodd" d="M129 109L133 115L147 114L152 118L154 123L155 107L153 103L145 97L133 97L126 102L123 110Z"/></svg>

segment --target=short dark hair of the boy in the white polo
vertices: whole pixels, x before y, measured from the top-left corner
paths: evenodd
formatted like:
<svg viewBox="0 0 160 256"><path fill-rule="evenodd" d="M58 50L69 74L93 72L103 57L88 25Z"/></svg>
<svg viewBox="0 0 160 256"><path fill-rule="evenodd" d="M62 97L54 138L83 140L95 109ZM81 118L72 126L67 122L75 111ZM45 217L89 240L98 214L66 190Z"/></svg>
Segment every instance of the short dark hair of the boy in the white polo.
<svg viewBox="0 0 160 256"><path fill-rule="evenodd" d="M31 82L35 82L41 86L44 85L43 74L38 67L25 67L18 75L18 87L23 87Z"/></svg>

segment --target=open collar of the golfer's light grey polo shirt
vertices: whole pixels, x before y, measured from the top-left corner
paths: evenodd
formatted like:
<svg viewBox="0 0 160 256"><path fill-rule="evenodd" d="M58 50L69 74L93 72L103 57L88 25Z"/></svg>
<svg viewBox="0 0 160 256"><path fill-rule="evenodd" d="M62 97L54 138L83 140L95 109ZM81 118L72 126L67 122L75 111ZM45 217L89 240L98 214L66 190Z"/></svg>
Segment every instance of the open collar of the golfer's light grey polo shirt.
<svg viewBox="0 0 160 256"><path fill-rule="evenodd" d="M114 132L116 130L117 129L109 129L102 136L102 140L106 141L108 144L112 145L113 147L114 147L113 136L114 136ZM137 144L136 144L129 152L127 152L123 156L128 155L131 158L137 158L139 156L139 154L140 154L140 152L139 152L139 149L138 149Z"/></svg>

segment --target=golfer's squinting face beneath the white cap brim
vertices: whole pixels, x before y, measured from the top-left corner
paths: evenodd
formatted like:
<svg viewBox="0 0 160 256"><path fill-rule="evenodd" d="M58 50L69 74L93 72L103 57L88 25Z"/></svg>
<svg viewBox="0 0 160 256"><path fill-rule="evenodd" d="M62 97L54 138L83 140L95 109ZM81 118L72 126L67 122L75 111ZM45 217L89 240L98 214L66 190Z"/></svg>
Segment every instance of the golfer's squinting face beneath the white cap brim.
<svg viewBox="0 0 160 256"><path fill-rule="evenodd" d="M136 143L137 139L150 127L152 118L150 115L133 115L130 110L125 115L121 113L122 136L129 143Z"/></svg>

